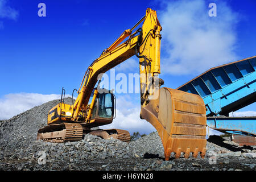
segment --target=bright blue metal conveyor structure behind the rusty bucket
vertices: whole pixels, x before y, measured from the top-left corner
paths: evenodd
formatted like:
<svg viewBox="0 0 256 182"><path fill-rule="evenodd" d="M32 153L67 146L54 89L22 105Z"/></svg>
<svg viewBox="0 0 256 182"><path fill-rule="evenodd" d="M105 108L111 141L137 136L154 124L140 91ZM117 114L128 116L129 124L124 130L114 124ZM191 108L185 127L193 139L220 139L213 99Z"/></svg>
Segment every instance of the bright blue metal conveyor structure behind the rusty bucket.
<svg viewBox="0 0 256 182"><path fill-rule="evenodd" d="M256 117L228 117L230 112L256 101L256 56L209 69L177 89L203 98L209 127L256 135Z"/></svg>

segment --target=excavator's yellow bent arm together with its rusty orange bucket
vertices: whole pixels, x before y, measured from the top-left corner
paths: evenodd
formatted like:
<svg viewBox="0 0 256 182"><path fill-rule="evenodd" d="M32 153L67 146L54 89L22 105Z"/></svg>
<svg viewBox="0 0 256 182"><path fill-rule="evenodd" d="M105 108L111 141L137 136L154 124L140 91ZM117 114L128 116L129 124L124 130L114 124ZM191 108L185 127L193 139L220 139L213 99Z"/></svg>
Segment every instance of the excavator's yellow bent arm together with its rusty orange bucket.
<svg viewBox="0 0 256 182"><path fill-rule="evenodd" d="M142 27L133 32L141 22ZM146 15L133 28L123 32L105 49L87 69L77 92L79 95L69 107L72 113L69 121L93 124L92 110L100 92L99 88L94 88L101 74L136 55L139 58L141 79L140 117L150 122L158 131L166 160L169 160L171 152L175 152L176 158L180 157L181 152L185 153L185 158L188 158L190 152L194 157L200 152L203 158L206 147L206 110L203 100L195 94L160 88L163 85L163 80L159 78L161 30L156 11L148 8ZM129 38L121 44L127 37ZM92 93L92 102L88 104ZM67 117L61 118L65 119ZM48 124L53 121L55 120L48 121Z"/></svg>

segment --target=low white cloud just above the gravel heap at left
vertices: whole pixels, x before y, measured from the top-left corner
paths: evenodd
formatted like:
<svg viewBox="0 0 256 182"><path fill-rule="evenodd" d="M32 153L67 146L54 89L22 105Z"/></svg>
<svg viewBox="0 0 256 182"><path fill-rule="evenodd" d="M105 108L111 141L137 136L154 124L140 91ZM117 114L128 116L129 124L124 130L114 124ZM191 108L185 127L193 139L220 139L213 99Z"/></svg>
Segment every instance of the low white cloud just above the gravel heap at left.
<svg viewBox="0 0 256 182"><path fill-rule="evenodd" d="M10 119L32 107L60 99L59 94L11 93L0 98L0 119ZM68 96L65 96L68 97Z"/></svg>

